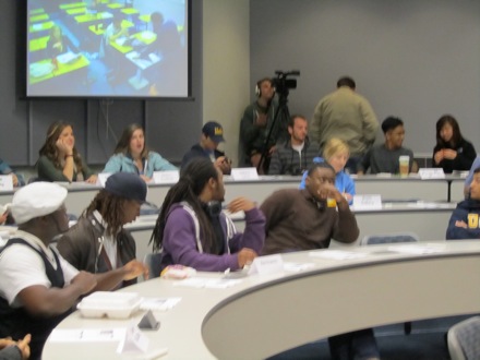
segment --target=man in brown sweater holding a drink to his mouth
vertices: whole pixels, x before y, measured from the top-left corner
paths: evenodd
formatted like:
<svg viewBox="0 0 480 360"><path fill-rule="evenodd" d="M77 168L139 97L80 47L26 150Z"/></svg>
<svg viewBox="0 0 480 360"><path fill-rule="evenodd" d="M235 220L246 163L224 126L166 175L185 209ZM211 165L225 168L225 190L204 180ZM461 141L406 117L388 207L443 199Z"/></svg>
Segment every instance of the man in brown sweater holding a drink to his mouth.
<svg viewBox="0 0 480 360"><path fill-rule="evenodd" d="M305 189L278 190L263 202L266 238L262 254L325 249L332 238L345 243L357 240L357 220L334 179L332 166L314 164ZM380 359L370 328L333 336L328 344L333 359Z"/></svg>

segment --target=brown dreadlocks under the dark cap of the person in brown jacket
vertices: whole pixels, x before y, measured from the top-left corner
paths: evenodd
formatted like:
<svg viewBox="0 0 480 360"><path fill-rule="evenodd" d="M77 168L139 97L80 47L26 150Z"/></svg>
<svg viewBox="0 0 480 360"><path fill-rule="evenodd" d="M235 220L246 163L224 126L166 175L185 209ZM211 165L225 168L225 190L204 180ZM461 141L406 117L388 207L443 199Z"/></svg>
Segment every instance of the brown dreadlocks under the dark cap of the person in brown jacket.
<svg viewBox="0 0 480 360"><path fill-rule="evenodd" d="M123 226L123 208L129 200L117 196L101 189L85 209L85 215L92 215L94 211L100 213L107 224L107 233L115 237Z"/></svg>

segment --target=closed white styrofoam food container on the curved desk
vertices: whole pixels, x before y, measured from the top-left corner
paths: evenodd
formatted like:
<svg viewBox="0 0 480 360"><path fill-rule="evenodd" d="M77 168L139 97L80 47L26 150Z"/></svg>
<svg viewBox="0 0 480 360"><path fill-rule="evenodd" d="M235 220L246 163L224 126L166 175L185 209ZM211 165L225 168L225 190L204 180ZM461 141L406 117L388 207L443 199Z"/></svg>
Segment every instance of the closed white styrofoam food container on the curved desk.
<svg viewBox="0 0 480 360"><path fill-rule="evenodd" d="M83 298L76 309L85 317L128 319L141 302L136 292L97 291Z"/></svg>

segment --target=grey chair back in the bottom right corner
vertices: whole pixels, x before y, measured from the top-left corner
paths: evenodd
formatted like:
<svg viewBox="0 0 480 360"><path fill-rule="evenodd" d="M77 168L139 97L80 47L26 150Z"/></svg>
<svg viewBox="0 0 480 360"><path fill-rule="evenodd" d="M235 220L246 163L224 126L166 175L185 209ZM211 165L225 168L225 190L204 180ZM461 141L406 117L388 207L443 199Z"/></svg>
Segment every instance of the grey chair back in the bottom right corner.
<svg viewBox="0 0 480 360"><path fill-rule="evenodd" d="M452 360L480 359L480 316L469 317L452 326L447 333Z"/></svg>

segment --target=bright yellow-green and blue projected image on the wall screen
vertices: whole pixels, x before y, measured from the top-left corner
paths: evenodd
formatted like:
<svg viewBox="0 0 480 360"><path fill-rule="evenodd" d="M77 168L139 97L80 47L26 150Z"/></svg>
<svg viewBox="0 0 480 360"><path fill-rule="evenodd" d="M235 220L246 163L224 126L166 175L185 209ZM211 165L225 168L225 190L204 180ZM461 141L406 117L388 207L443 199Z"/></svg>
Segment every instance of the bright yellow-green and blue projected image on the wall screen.
<svg viewBox="0 0 480 360"><path fill-rule="evenodd" d="M27 96L187 97L188 0L28 0Z"/></svg>

